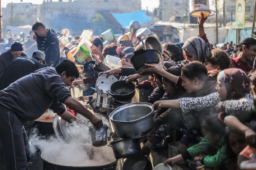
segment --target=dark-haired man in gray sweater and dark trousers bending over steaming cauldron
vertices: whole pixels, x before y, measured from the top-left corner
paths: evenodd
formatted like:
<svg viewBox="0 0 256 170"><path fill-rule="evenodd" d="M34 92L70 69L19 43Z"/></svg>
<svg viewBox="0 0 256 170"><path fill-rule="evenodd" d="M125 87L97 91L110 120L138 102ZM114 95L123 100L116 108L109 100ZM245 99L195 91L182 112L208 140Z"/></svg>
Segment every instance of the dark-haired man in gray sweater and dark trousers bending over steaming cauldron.
<svg viewBox="0 0 256 170"><path fill-rule="evenodd" d="M102 120L71 97L66 87L72 85L78 77L76 65L69 60L63 60L56 69L51 67L36 70L0 91L0 140L6 169L28 169L22 123L24 120L39 118L48 108L68 122L82 122L65 109L62 104L64 103L88 118L95 128L102 127Z"/></svg>

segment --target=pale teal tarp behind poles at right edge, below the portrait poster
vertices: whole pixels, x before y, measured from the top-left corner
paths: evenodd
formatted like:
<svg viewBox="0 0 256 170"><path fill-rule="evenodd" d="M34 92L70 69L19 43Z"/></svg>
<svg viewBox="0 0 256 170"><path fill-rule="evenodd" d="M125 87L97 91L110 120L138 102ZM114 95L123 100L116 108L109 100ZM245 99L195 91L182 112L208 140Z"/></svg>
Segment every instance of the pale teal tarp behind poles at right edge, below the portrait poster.
<svg viewBox="0 0 256 170"><path fill-rule="evenodd" d="M256 31L256 28L255 30ZM240 30L240 40L244 40L245 38L251 38L252 35L252 28L244 28ZM228 30L228 36L224 43L233 41L234 43L236 42L236 29L229 29Z"/></svg>

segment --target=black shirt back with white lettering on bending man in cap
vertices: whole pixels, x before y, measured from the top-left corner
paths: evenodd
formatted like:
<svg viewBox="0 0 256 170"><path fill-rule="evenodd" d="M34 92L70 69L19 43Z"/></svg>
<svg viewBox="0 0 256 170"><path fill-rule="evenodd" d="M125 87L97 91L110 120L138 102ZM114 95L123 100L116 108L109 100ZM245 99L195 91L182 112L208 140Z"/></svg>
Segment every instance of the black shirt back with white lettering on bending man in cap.
<svg viewBox="0 0 256 170"><path fill-rule="evenodd" d="M36 70L44 68L34 57L18 57L5 69L0 78L0 90L8 87L11 83Z"/></svg>

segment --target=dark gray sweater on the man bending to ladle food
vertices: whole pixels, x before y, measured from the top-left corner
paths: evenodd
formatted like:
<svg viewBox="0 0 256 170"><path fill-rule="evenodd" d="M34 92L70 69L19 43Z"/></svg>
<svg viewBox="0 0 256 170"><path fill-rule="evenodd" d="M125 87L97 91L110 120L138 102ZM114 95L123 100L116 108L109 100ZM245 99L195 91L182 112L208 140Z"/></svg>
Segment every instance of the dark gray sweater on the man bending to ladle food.
<svg viewBox="0 0 256 170"><path fill-rule="evenodd" d="M36 70L0 91L0 107L13 112L21 122L39 118L48 108L58 115L71 94L55 68Z"/></svg>

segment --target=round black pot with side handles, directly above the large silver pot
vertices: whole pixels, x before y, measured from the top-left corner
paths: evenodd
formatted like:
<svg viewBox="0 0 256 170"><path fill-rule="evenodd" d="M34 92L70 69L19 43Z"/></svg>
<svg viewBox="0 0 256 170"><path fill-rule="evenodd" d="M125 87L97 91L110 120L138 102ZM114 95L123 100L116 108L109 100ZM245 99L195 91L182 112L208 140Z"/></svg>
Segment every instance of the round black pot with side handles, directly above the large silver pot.
<svg viewBox="0 0 256 170"><path fill-rule="evenodd" d="M112 85L110 86L110 90L108 90L107 92L116 101L130 101L135 95L135 89L136 87L134 83L126 83L126 80L119 80L112 83Z"/></svg>

